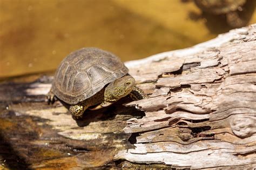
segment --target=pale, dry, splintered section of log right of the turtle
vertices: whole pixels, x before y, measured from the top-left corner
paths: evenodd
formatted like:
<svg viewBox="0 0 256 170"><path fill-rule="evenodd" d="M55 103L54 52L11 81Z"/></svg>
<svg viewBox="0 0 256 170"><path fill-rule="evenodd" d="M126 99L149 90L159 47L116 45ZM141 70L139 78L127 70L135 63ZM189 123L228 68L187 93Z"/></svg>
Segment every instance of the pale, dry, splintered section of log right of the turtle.
<svg viewBox="0 0 256 170"><path fill-rule="evenodd" d="M190 49L126 63L151 96L127 120L116 159L179 168L256 167L256 25ZM144 86L151 82L151 90ZM238 168L237 167L237 168Z"/></svg>

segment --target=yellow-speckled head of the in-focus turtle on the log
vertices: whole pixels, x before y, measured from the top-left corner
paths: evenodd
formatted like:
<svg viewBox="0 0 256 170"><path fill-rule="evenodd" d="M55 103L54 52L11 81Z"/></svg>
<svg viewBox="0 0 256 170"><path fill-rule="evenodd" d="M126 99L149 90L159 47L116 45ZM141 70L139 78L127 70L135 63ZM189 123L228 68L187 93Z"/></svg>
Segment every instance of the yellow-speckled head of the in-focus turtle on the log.
<svg viewBox="0 0 256 170"><path fill-rule="evenodd" d="M135 80L131 76L118 78L106 86L104 100L113 102L131 93L135 86Z"/></svg>

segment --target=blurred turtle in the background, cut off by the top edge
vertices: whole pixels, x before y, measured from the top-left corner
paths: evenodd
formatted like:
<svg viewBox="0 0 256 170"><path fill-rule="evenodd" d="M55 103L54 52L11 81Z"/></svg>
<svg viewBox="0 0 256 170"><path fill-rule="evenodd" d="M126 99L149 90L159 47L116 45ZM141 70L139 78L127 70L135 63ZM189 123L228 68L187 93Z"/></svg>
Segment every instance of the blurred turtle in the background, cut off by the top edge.
<svg viewBox="0 0 256 170"><path fill-rule="evenodd" d="M227 24L234 28L245 26L247 23L238 13L246 0L194 0L194 3L204 12L226 15Z"/></svg>

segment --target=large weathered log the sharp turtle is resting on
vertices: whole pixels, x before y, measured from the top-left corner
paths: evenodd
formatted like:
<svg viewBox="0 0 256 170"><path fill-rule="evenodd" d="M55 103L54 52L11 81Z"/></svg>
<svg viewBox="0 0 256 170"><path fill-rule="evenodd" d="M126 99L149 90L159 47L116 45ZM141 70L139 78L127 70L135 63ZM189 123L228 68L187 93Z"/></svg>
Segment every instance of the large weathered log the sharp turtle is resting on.
<svg viewBox="0 0 256 170"><path fill-rule="evenodd" d="M79 120L59 101L46 104L51 76L3 82L1 166L255 168L255 33L256 24L126 62L150 98L124 98Z"/></svg>

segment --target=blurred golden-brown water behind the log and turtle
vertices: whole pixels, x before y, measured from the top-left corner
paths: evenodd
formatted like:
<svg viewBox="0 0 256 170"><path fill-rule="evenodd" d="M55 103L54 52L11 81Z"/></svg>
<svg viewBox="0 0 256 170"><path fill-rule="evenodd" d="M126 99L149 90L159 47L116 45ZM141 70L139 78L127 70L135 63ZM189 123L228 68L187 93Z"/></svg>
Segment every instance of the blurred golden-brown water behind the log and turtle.
<svg viewBox="0 0 256 170"><path fill-rule="evenodd" d="M0 78L53 71L86 46L123 61L183 49L239 27L227 21L229 10L241 25L256 23L255 0L227 3L221 12L195 1L0 0Z"/></svg>

